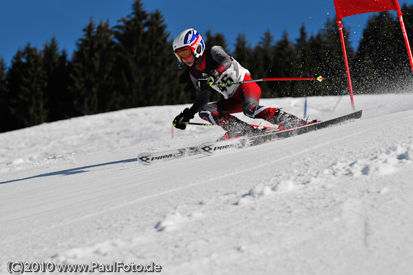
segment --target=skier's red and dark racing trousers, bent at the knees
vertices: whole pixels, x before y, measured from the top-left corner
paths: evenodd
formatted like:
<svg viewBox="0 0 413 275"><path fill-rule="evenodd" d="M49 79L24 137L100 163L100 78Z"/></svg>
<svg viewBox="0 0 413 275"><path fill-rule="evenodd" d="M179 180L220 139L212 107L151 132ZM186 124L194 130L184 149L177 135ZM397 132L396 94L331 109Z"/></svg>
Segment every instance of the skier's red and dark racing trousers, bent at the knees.
<svg viewBox="0 0 413 275"><path fill-rule="evenodd" d="M246 74L244 81L248 80L252 79ZM253 119L265 119L273 123L274 113L278 108L258 105L260 97L261 88L257 83L243 83L229 99L204 105L199 114L201 119L220 125L224 130L228 122L233 119L231 114L236 112L244 112L246 116Z"/></svg>

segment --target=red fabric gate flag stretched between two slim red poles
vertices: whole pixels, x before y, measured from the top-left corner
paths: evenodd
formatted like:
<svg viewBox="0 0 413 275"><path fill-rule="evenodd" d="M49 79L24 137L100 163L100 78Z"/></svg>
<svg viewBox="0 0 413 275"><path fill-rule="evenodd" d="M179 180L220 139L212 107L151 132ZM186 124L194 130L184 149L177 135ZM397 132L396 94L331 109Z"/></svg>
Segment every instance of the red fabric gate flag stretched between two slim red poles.
<svg viewBox="0 0 413 275"><path fill-rule="evenodd" d="M401 13L399 1L397 0L334 0L337 21L349 15L367 12L384 12L385 10L396 10Z"/></svg>

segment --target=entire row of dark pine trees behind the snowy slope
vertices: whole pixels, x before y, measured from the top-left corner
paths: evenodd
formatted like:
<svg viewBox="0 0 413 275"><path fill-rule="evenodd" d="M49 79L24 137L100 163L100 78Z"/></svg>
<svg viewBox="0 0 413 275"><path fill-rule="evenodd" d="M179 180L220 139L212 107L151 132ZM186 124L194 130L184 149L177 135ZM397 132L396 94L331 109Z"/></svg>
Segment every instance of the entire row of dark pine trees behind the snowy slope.
<svg viewBox="0 0 413 275"><path fill-rule="evenodd" d="M413 6L405 5L402 11L407 34L413 37ZM166 29L158 10L146 12L136 0L131 14L112 28L91 18L71 58L59 50L55 38L41 50L30 43L17 50L10 68L0 58L0 132L86 114L192 102L195 92L188 68L178 70ZM350 30L343 31L355 93L392 92L396 83L412 77L394 14L372 15L357 50L350 45ZM202 35L207 47L222 45L228 51L223 34ZM348 83L339 39L337 23L327 19L317 34L309 35L302 26L296 41L287 32L274 41L268 30L253 47L239 34L230 54L253 79L325 79L262 82L262 97L342 94L348 92ZM220 99L211 92L211 101Z"/></svg>

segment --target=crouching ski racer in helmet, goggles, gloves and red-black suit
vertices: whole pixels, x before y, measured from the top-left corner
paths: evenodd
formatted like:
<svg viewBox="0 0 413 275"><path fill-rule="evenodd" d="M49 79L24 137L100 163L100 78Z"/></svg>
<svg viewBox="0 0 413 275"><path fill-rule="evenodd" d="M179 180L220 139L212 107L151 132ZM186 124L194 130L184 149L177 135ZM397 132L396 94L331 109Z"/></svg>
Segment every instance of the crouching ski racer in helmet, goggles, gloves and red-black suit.
<svg viewBox="0 0 413 275"><path fill-rule="evenodd" d="M201 35L193 28L184 30L176 37L173 41L173 53L178 61L190 67L191 80L197 94L197 99L191 108L186 108L173 120L175 128L184 130L186 123L193 119L197 112L201 119L221 126L229 137L261 132L231 115L235 112L243 112L253 119L264 119L279 125L280 129L306 124L306 121L281 108L258 105L261 89L255 82L213 85L252 80L251 74L221 46L206 48ZM220 92L224 100L209 103L209 88Z"/></svg>

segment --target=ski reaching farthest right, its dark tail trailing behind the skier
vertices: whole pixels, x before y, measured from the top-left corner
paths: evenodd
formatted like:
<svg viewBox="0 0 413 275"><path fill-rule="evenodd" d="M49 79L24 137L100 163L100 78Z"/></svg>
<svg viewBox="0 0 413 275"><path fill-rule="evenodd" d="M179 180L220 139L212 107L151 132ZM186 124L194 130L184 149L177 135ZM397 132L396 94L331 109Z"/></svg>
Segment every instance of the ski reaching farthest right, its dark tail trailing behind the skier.
<svg viewBox="0 0 413 275"><path fill-rule="evenodd" d="M200 152L204 155L211 156L213 154L219 154L220 152L241 149L244 147L251 147L279 139L286 139L290 136L297 136L299 134L305 134L307 132L313 132L315 130L327 128L332 125L338 125L341 123L353 121L355 119L360 119L361 114L362 110L353 112L351 114L346 114L344 116L339 116L335 119L330 119L328 121L317 121L315 123L310 123L304 126L300 126L298 128L269 131L258 136L246 136L227 141L206 142L200 145Z"/></svg>

